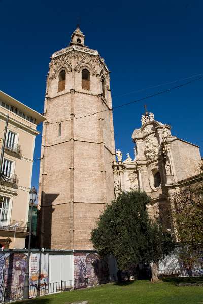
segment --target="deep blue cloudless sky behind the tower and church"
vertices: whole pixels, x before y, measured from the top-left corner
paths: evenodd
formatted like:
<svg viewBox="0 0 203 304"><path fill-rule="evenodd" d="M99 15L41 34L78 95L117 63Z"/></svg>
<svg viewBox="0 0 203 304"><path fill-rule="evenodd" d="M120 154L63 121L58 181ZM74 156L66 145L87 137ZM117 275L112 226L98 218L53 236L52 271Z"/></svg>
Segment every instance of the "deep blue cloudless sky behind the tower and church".
<svg viewBox="0 0 203 304"><path fill-rule="evenodd" d="M80 22L86 45L111 71L113 106L182 84L164 83L203 73L202 1L0 0L0 90L43 112L50 56L69 45ZM131 134L146 103L172 134L200 146L203 80L115 109L116 148L133 155ZM137 92L140 91L140 92ZM38 128L41 131L41 127ZM38 186L41 135L36 139L32 184Z"/></svg>

